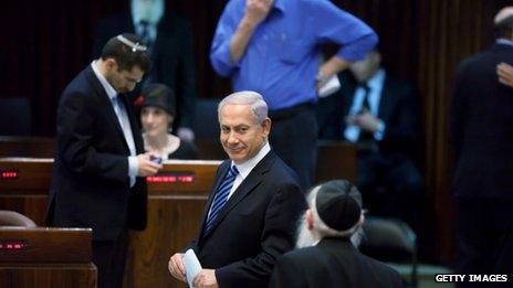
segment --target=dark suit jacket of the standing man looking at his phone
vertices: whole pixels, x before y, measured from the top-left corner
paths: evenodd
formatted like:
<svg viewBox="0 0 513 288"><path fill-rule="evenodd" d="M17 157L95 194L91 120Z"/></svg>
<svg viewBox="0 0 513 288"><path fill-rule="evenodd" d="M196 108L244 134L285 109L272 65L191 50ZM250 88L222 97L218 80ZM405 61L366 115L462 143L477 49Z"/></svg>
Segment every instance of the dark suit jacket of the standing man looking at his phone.
<svg viewBox="0 0 513 288"><path fill-rule="evenodd" d="M123 96L123 95L122 95ZM137 153L143 138L124 98ZM48 224L92 227L95 241L115 239L122 228L146 226L146 184L129 188L128 145L111 99L91 65L62 93L57 108L57 150Z"/></svg>

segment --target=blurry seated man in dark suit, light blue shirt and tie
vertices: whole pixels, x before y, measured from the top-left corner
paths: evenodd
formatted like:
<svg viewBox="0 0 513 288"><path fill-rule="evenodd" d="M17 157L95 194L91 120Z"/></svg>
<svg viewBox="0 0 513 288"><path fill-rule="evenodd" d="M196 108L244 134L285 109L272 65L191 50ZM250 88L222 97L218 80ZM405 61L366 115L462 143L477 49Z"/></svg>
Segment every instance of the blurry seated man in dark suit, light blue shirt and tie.
<svg viewBox="0 0 513 288"><path fill-rule="evenodd" d="M349 66L352 73L339 75L339 93L320 99L320 138L356 145L356 185L371 214L396 216L416 227L425 190L413 161L421 131L419 97L380 63L374 50Z"/></svg>

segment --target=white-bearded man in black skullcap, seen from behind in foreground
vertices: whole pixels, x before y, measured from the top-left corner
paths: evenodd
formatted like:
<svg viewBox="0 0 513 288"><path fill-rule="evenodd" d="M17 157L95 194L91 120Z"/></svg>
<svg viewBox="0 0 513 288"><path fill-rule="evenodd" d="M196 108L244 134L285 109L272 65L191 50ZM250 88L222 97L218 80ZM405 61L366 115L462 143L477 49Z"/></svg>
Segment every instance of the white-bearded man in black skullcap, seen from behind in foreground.
<svg viewBox="0 0 513 288"><path fill-rule="evenodd" d="M308 206L300 231L307 230L316 244L283 255L269 287L402 286L397 271L360 254L350 242L364 223L362 195L354 185L346 180L317 185L308 194Z"/></svg>

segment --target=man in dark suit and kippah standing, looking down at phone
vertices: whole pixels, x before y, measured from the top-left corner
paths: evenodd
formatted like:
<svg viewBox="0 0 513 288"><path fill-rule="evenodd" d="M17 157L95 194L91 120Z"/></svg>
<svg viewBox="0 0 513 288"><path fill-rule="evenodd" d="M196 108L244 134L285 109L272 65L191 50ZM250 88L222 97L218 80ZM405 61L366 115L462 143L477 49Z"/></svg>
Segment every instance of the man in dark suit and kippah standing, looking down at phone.
<svg viewBox="0 0 513 288"><path fill-rule="evenodd" d="M143 153L133 107L124 95L149 64L135 35L115 36L101 58L66 86L59 103L48 224L93 228L98 287L122 287L127 228L146 226L143 177L160 168Z"/></svg>

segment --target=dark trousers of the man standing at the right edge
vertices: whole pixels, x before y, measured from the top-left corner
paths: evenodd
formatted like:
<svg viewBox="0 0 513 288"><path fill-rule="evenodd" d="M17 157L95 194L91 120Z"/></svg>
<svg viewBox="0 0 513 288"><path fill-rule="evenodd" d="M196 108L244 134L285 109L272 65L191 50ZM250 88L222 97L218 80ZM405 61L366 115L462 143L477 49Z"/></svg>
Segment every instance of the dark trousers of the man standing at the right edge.
<svg viewBox="0 0 513 288"><path fill-rule="evenodd" d="M507 284L513 285L513 199L460 198L457 207L457 273L509 275ZM458 285L477 286L493 285Z"/></svg>

